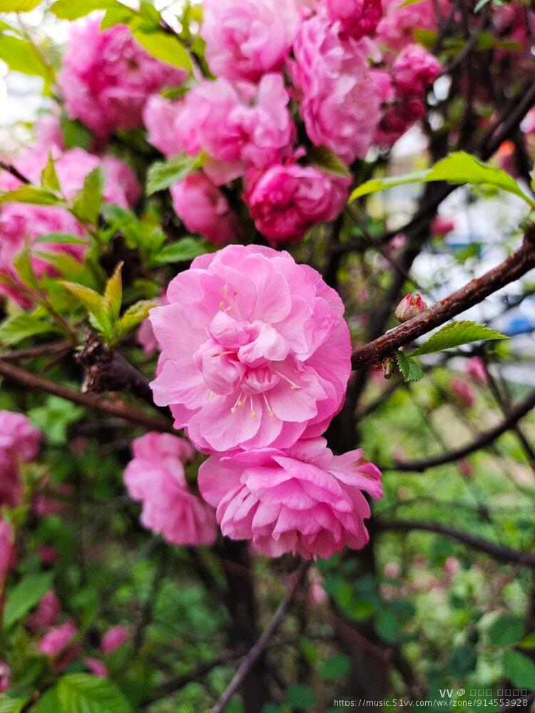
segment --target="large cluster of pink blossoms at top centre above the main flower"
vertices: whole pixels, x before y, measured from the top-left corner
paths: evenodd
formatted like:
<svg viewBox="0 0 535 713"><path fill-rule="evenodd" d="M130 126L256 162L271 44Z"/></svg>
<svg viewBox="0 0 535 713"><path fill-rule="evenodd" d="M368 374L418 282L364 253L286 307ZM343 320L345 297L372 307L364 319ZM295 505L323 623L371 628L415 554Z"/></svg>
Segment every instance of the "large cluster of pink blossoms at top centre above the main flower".
<svg viewBox="0 0 535 713"><path fill-rule="evenodd" d="M272 245L340 215L350 180L307 160L297 123L349 166L422 118L441 67L414 43L414 29L436 19L432 0L400 4L205 1L201 35L215 81L196 81L178 100L155 94L143 112L148 140L165 156L205 155L202 173L171 191L188 230L219 245L240 235L221 188L235 179Z"/></svg>

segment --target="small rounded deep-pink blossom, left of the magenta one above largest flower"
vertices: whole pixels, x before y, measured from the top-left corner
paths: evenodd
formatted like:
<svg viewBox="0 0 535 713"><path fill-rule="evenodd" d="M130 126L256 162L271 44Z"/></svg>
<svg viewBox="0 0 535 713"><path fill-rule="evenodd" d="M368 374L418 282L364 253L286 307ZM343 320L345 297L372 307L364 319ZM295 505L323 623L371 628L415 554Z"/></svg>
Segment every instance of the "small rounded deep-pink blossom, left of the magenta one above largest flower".
<svg viewBox="0 0 535 713"><path fill-rule="evenodd" d="M203 173L190 173L170 189L173 208L187 230L225 245L240 235L238 217L223 193Z"/></svg>

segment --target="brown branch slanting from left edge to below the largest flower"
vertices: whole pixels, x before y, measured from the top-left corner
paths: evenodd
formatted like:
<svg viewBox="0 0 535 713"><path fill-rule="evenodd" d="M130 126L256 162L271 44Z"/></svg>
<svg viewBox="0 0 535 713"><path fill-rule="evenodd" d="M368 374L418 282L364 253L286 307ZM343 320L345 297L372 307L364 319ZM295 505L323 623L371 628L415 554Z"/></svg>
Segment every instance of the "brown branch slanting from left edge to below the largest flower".
<svg viewBox="0 0 535 713"><path fill-rule="evenodd" d="M0 376L4 376L4 378L8 379L8 381L14 381L16 384L27 386L29 389L44 391L46 394L53 394L54 396L58 396L60 399L72 401L73 404L86 406L88 409L103 411L103 413L110 414L111 416L118 416L120 419L130 421L131 424L143 426L143 428L148 429L149 431L159 431L161 433L170 434L175 433L173 424L171 424L170 421L160 418L159 416L145 414L143 411L139 411L133 406L125 404L124 401L111 402L106 401L106 399L103 399L102 397L82 394L81 391L70 389L68 386L63 386L63 384L56 384L55 381L44 379L42 376L36 376L36 374L31 374L29 371L19 369L19 366L7 364L1 359Z"/></svg>

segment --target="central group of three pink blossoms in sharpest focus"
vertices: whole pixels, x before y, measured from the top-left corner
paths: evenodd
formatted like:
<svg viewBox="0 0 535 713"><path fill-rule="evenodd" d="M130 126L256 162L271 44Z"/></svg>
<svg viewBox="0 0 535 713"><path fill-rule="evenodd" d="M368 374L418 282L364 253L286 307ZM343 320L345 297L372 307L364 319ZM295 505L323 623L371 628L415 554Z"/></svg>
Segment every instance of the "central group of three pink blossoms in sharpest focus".
<svg viewBox="0 0 535 713"><path fill-rule="evenodd" d="M224 535L270 556L329 557L367 542L363 492L382 495L362 451L321 434L340 410L351 343L335 290L287 252L228 246L196 258L151 311L161 347L152 388L210 458L198 485ZM181 438L134 441L125 482L142 522L171 543L209 543L213 513L190 492Z"/></svg>

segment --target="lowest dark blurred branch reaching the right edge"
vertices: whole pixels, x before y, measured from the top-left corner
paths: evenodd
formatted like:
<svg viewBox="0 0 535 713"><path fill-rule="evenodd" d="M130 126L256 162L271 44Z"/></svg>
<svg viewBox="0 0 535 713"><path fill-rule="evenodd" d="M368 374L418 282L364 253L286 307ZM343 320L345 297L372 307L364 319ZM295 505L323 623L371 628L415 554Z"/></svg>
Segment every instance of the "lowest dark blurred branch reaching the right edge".
<svg viewBox="0 0 535 713"><path fill-rule="evenodd" d="M517 563L526 565L526 567L535 568L535 554L514 550L505 545L498 545L489 540L484 540L472 533L457 530L457 528L441 525L440 523L429 523L424 520L371 520L369 523L370 532L381 533L394 530L397 532L411 532L412 530L421 530L422 532L444 535L444 537L467 545L473 550L479 550L487 555L491 555L496 560L501 560L507 563Z"/></svg>

